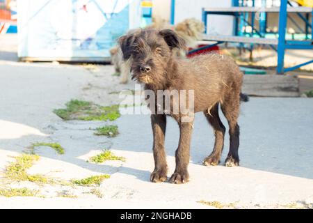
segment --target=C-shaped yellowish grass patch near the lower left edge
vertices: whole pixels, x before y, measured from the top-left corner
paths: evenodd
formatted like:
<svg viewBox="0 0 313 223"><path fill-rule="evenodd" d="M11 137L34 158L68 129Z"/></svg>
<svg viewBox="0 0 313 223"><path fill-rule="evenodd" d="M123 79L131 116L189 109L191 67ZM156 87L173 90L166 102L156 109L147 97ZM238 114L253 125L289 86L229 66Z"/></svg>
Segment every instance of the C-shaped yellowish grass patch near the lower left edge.
<svg viewBox="0 0 313 223"><path fill-rule="evenodd" d="M48 183L48 179L41 174L29 175L27 169L33 166L35 161L39 160L38 155L22 154L15 157L16 161L12 162L6 170L4 175L6 178L15 181L31 181L33 183Z"/></svg>

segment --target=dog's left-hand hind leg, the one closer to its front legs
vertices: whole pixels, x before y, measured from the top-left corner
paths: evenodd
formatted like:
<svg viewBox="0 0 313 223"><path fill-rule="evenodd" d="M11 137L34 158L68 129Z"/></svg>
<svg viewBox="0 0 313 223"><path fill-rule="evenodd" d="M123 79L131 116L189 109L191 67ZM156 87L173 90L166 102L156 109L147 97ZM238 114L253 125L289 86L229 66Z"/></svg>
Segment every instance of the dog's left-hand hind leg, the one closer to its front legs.
<svg viewBox="0 0 313 223"><path fill-rule="evenodd" d="M220 116L218 116L218 103L216 103L210 111L205 111L203 113L214 129L215 135L214 149L211 155L204 159L203 164L205 166L216 166L220 162L220 155L222 154L224 147L225 126L222 121L220 121Z"/></svg>

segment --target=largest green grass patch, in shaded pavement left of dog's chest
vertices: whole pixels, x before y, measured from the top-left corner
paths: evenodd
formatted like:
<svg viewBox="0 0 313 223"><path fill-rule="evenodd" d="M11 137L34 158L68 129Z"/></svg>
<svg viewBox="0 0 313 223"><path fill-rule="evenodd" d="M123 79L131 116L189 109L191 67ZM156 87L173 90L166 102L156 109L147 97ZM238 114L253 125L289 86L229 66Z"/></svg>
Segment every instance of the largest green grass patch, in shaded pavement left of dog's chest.
<svg viewBox="0 0 313 223"><path fill-rule="evenodd" d="M54 113L64 120L114 121L120 117L118 105L102 107L83 100L71 100L66 109L55 109Z"/></svg>

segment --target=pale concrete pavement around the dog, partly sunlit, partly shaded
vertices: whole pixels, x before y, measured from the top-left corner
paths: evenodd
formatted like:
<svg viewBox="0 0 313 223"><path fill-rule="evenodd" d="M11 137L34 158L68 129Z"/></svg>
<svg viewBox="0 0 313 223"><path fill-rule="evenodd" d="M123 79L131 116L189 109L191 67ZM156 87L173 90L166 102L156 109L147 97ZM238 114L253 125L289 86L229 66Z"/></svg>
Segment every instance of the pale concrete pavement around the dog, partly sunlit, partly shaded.
<svg viewBox="0 0 313 223"><path fill-rule="evenodd" d="M186 185L149 182L153 170L152 130L149 115L125 115L117 121L116 138L97 137L93 129L104 122L62 121L52 111L72 98L100 105L116 103L113 91L133 89L134 83L118 84L111 66L68 66L51 63L0 64L0 168L35 141L55 141L65 155L38 149L39 162L32 174L70 180L96 174L111 174L99 187L102 199L86 194L88 188L62 185L38 186L10 183L10 187L30 187L46 197L0 197L3 208L212 208L198 201L236 203L236 208L277 208L313 198L313 99L251 98L241 107L241 167L223 167L228 150L225 141L222 162L204 167L201 162L214 144L211 127L197 114L189 167L191 182ZM226 125L225 118L223 123ZM168 176L175 168L179 139L177 124L169 118L166 134ZM88 157L111 148L126 162L86 162ZM3 178L1 178L3 180ZM6 183L1 184L7 185ZM70 191L78 199L60 199L56 194ZM31 202L29 202L31 201ZM47 206L45 206L47 203Z"/></svg>

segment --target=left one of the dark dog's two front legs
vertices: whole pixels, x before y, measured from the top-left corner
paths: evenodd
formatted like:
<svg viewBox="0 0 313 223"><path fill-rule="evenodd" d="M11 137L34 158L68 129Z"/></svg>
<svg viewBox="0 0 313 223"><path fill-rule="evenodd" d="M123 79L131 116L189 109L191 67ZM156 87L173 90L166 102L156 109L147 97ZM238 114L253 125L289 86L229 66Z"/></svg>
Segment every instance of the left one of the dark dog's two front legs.
<svg viewBox="0 0 313 223"><path fill-rule="evenodd" d="M164 182L167 179L166 153L164 148L165 132L166 132L166 115L151 115L152 131L153 131L153 156L154 171L150 180L154 183Z"/></svg>

